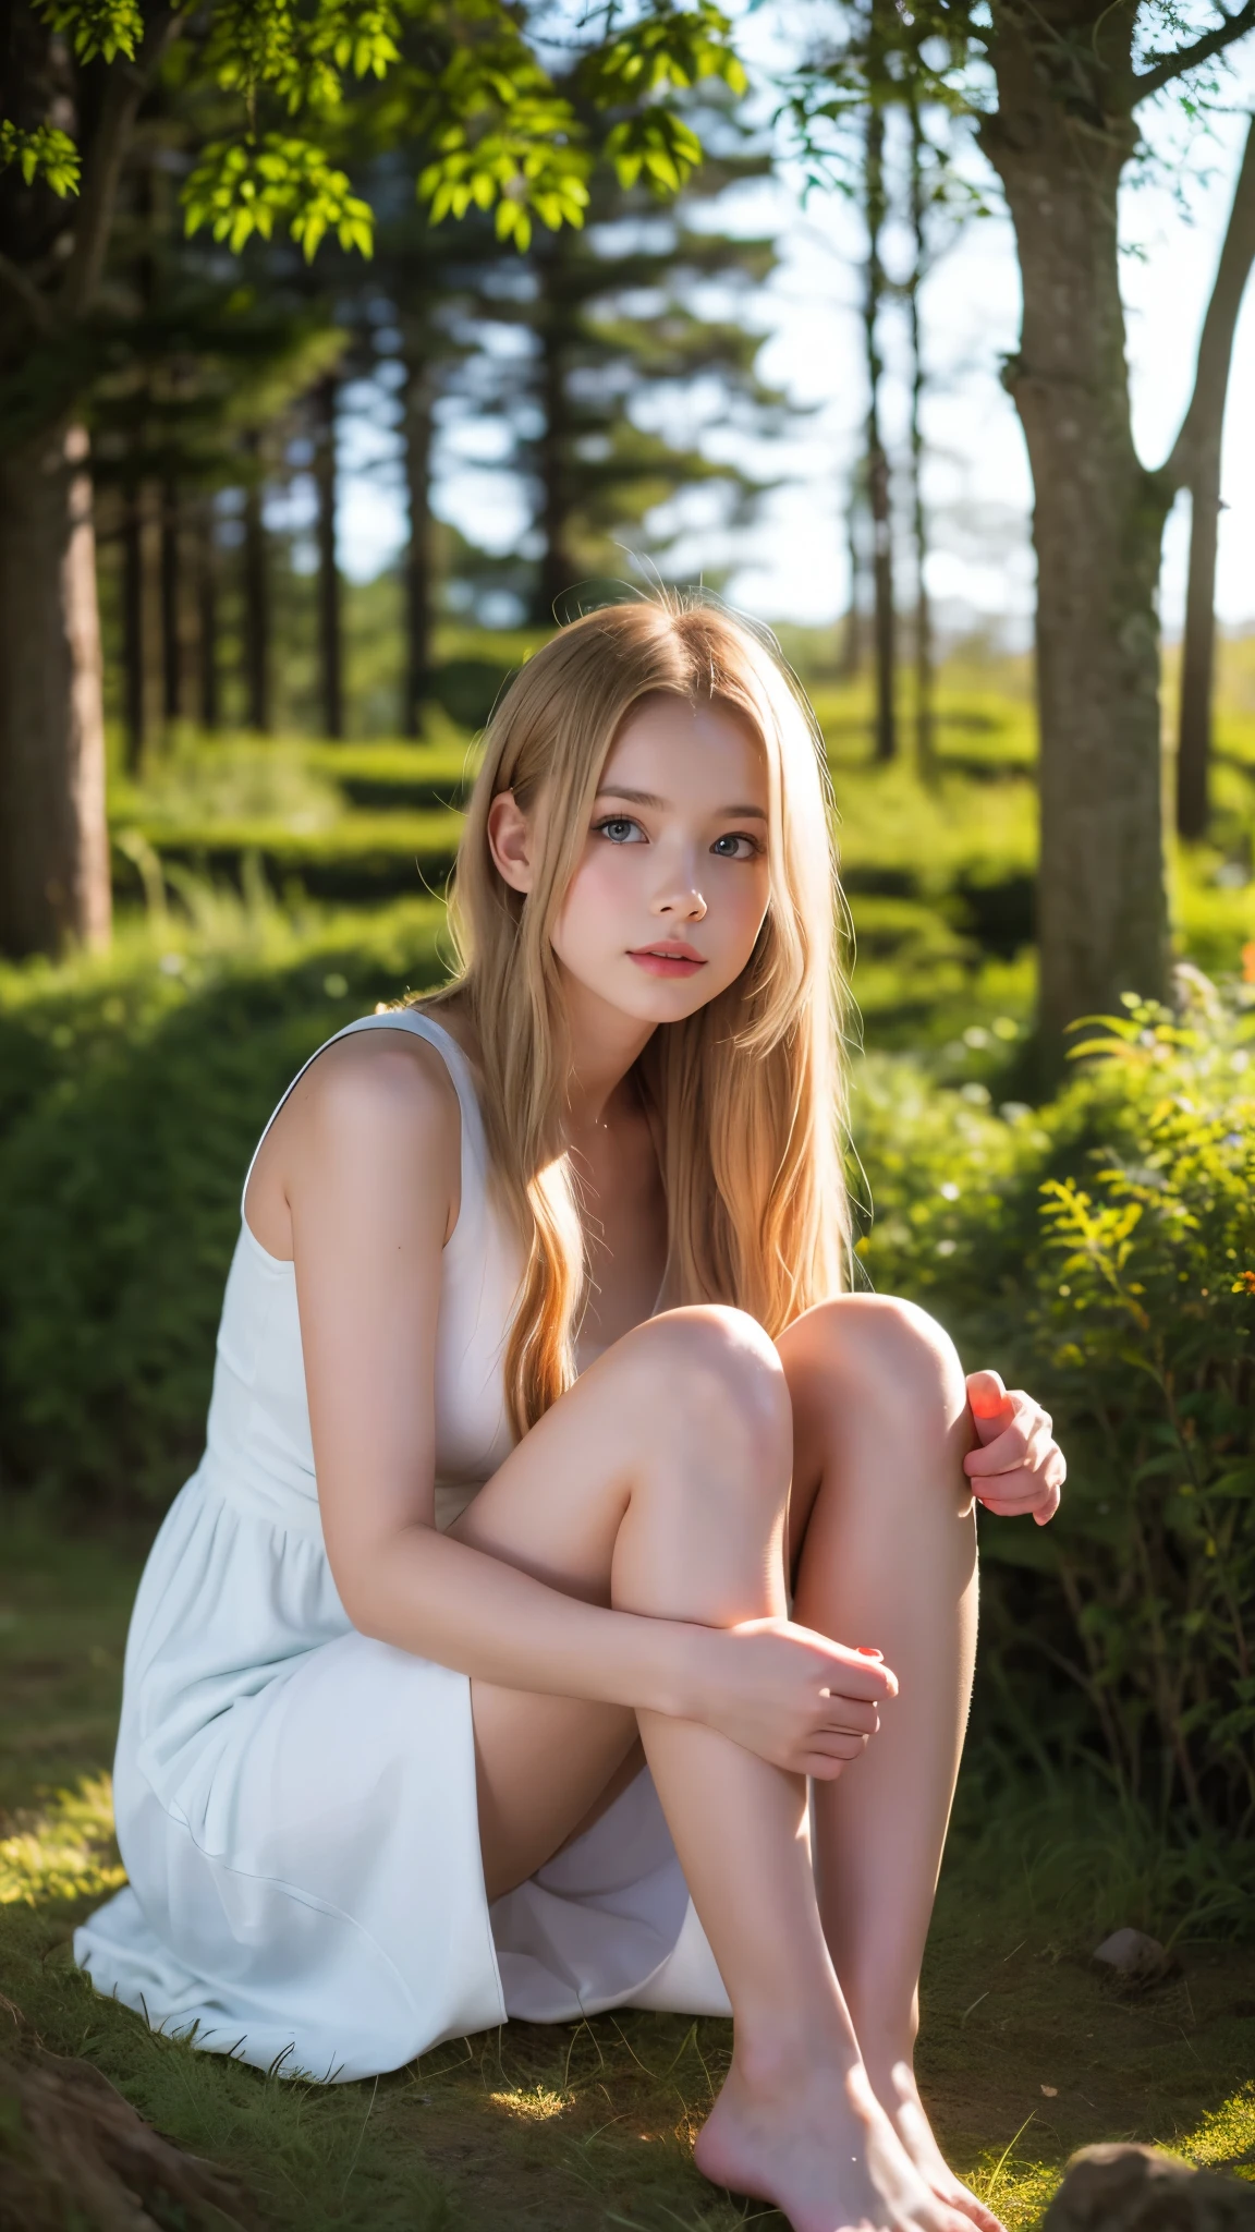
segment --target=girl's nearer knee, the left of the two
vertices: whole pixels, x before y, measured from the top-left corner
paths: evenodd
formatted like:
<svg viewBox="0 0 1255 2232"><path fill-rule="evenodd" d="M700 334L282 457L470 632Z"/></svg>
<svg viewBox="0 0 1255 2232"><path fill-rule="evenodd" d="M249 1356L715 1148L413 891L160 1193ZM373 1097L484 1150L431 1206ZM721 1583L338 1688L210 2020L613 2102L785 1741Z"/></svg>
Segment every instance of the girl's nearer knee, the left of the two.
<svg viewBox="0 0 1255 2232"><path fill-rule="evenodd" d="M779 1464L788 1478L788 1384L775 1341L755 1317L724 1303L697 1303L665 1310L639 1335L661 1431L730 1446L750 1460L755 1478Z"/></svg>

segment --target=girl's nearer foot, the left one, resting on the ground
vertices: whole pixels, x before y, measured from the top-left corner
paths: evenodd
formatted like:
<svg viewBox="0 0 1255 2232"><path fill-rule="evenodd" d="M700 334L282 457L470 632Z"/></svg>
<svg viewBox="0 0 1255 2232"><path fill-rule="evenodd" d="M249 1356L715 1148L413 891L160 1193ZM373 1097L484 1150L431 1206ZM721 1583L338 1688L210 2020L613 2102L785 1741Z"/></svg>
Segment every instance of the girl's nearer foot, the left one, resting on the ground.
<svg viewBox="0 0 1255 2232"><path fill-rule="evenodd" d="M866 2071L732 2069L697 2136L712 2185L773 2201L793 2232L971 2232L907 2158Z"/></svg>

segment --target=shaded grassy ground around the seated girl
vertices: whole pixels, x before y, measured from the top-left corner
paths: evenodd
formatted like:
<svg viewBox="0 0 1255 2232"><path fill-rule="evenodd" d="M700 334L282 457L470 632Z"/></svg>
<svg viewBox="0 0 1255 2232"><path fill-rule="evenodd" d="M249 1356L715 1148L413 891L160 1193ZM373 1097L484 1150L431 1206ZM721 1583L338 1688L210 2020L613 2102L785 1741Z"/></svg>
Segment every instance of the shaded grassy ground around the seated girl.
<svg viewBox="0 0 1255 2232"><path fill-rule="evenodd" d="M123 1877L107 1766L143 1538L0 1529L0 1993L161 2132L248 2185L268 2232L730 2232L690 2145L724 2022L601 2015L453 2040L377 2085L317 2089L197 2056L98 2000L69 1935ZM1034 2225L1072 2149L1146 2138L1255 2178L1255 1949L1179 1942L1157 1991L1112 1989L1096 1931L1155 1924L1155 1855L1043 1792L976 1777L942 1879L920 2069L956 2167Z"/></svg>

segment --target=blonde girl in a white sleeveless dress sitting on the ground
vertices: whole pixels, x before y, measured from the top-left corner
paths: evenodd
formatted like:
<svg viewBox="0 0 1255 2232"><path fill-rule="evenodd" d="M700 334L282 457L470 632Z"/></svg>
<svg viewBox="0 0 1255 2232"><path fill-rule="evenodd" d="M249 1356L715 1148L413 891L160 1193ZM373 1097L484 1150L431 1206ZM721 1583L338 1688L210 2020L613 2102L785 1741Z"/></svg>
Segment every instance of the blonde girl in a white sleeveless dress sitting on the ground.
<svg viewBox="0 0 1255 2232"><path fill-rule="evenodd" d="M708 2178L797 2232L991 2232L913 2087L918 1975L971 1487L1043 1522L1063 1460L844 1292L833 913L820 745L748 627L621 605L523 667L456 980L342 1031L255 1154L132 1623L130 1888L76 1955L324 2078L730 2011Z"/></svg>

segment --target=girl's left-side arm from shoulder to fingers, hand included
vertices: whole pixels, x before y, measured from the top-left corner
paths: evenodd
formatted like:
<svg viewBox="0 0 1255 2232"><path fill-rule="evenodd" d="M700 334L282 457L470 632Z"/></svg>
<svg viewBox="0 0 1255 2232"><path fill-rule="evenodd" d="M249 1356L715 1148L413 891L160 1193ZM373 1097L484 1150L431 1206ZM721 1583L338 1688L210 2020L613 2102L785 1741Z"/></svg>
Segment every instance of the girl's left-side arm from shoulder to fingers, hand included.
<svg viewBox="0 0 1255 2232"><path fill-rule="evenodd" d="M458 1147L438 1056L380 1031L315 1062L259 1158L257 1201L250 1187L264 1243L290 1228L326 1553L348 1618L505 1690L708 1721L779 1766L840 1772L875 1725L869 1707L893 1694L884 1665L784 1618L721 1629L607 1609L435 1531ZM605 1484L605 1451L601 1469ZM623 1511L630 1495L625 1471Z"/></svg>

